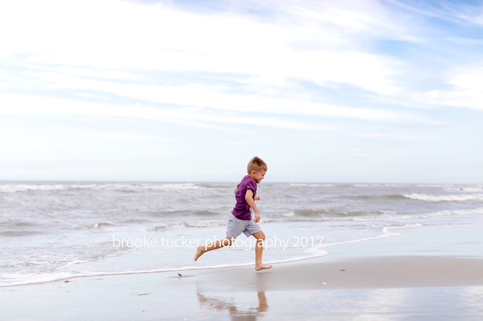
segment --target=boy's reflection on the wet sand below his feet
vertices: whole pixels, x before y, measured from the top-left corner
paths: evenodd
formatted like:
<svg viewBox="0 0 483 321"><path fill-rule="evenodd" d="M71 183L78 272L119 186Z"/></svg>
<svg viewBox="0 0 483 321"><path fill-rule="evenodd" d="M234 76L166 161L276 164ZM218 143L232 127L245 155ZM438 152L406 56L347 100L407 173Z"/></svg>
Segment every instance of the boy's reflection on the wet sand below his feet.
<svg viewBox="0 0 483 321"><path fill-rule="evenodd" d="M219 298L210 298L207 295L197 293L198 300L200 301L200 308L209 308L211 310L228 310L231 320L236 321L255 321L261 316L261 312L268 310L268 304L266 303L265 292L257 293L259 298L259 306L256 308L244 308L239 309L233 302L233 300L220 300Z"/></svg>

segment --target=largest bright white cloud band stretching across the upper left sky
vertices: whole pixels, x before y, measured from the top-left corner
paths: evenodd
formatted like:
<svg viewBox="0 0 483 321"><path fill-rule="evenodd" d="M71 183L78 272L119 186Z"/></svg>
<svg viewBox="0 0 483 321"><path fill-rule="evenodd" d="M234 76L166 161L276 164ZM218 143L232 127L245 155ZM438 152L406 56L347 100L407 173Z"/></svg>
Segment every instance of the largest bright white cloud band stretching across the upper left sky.
<svg viewBox="0 0 483 321"><path fill-rule="evenodd" d="M360 26L368 19L377 21L367 12L325 6L328 13L348 15L338 21L357 21L347 18L350 12L359 17ZM0 11L9 12L0 22L0 53L7 57L21 53L35 64L252 74L304 79L320 86L352 84L378 94L401 90L392 80L401 72L397 60L357 48L333 47L330 41L313 48L310 43L320 44L330 34L322 26L283 26L224 13L203 16L168 6L112 0L11 1L1 4ZM304 11L303 16L307 15ZM324 13L312 19L323 24L329 17ZM303 43L308 45L300 43L300 35L307 37Z"/></svg>

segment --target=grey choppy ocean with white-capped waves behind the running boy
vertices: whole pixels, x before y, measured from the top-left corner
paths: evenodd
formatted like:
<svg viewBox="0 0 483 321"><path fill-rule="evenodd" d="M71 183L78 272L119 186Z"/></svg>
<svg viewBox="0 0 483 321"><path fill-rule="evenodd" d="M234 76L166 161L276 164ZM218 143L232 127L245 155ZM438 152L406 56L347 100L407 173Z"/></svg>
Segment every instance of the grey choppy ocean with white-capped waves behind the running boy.
<svg viewBox="0 0 483 321"><path fill-rule="evenodd" d="M254 264L254 238L225 237L237 183L1 182L0 286L72 276ZM414 230L483 223L483 185L259 184L264 262Z"/></svg>

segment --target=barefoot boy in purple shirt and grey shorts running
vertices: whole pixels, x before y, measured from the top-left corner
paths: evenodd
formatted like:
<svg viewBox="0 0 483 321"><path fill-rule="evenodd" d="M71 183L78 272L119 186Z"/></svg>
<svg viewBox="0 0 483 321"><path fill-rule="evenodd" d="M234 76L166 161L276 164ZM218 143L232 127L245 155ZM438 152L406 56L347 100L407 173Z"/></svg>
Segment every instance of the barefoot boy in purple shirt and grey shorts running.
<svg viewBox="0 0 483 321"><path fill-rule="evenodd" d="M253 235L256 238L256 271L270 269L272 267L269 264L261 263L261 255L264 252L265 234L261 230L260 225L256 224L260 222L259 209L255 205L255 201L259 201L260 199L260 197L256 195L256 184L260 184L261 180L265 178L266 170L266 163L259 157L255 156L250 159L246 168L248 175L241 179L240 184L235 188L235 199L237 200L237 204L232 210L232 214L229 215L227 238L219 240L218 242L212 242L212 244L207 246L200 245L197 247L195 261L205 252L232 245L233 240L243 232L246 237ZM255 212L255 220L251 219L252 210Z"/></svg>

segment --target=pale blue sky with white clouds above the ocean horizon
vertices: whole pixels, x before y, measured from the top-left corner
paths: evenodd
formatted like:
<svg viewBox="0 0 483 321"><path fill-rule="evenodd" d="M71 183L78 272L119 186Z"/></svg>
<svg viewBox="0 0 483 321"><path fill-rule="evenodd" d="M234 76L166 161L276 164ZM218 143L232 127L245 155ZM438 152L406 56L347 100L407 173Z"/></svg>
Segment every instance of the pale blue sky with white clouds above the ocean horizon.
<svg viewBox="0 0 483 321"><path fill-rule="evenodd" d="M0 2L0 181L483 184L483 1Z"/></svg>

